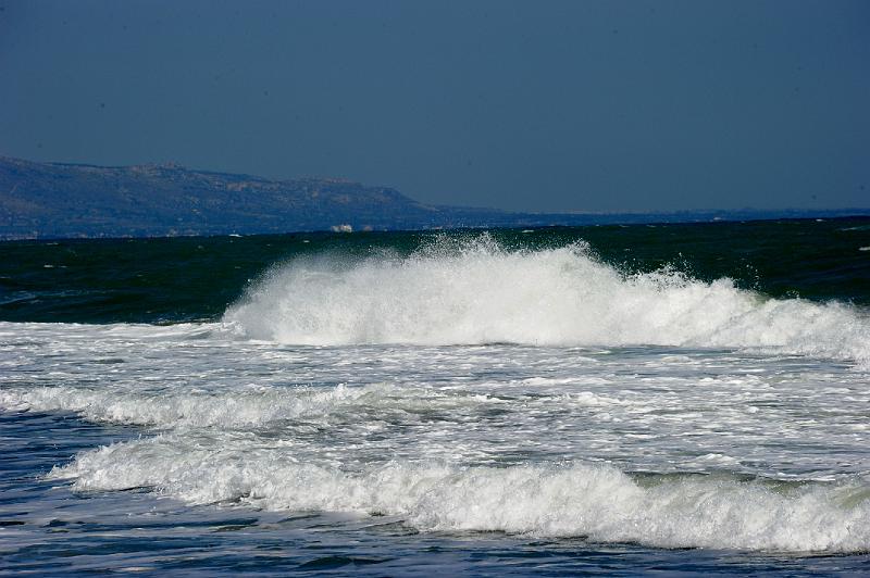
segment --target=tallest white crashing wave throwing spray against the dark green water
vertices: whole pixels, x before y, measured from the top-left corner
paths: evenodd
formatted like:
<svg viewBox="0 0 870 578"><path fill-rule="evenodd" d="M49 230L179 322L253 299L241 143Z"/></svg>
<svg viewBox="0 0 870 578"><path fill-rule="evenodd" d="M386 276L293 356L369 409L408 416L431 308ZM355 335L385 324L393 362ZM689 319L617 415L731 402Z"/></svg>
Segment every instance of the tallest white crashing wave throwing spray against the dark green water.
<svg viewBox="0 0 870 578"><path fill-rule="evenodd" d="M224 321L249 338L300 344L658 344L870 356L870 322L848 305L768 299L731 279L704 282L669 268L624 274L584 243L506 250L486 235L445 237L407 257L295 260Z"/></svg>

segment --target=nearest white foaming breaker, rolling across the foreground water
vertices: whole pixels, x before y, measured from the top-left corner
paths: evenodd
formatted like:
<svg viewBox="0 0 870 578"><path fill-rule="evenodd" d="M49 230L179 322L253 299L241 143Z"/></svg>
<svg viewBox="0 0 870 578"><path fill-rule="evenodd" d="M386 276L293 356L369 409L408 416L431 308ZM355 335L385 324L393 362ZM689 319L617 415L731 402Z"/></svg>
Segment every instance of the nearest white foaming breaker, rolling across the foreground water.
<svg viewBox="0 0 870 578"><path fill-rule="evenodd" d="M506 468L391 462L360 472L301 463L291 454L160 437L79 454L50 477L78 491L151 487L190 504L398 516L420 530L506 531L542 537L719 549L870 550L870 486L776 487L730 477L638 482L607 465Z"/></svg>

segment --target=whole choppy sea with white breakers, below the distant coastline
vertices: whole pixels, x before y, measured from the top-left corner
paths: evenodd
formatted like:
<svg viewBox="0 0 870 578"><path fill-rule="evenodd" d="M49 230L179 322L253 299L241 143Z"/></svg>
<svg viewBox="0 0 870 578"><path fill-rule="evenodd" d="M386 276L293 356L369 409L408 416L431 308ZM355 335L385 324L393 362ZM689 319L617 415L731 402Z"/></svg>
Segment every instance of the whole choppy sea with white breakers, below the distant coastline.
<svg viewBox="0 0 870 578"><path fill-rule="evenodd" d="M870 570L870 219L0 243L0 574Z"/></svg>

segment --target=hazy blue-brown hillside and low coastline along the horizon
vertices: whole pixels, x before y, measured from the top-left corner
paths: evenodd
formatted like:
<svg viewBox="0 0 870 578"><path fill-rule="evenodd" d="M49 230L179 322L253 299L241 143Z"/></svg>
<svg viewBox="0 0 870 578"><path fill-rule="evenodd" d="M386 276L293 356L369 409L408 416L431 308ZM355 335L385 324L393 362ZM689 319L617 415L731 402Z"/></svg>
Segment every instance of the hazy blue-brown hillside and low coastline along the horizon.
<svg viewBox="0 0 870 578"><path fill-rule="evenodd" d="M858 211L857 214L867 214ZM856 211L511 213L427 205L339 179L268 180L169 164L92 166L0 156L0 239L527 227L837 216Z"/></svg>

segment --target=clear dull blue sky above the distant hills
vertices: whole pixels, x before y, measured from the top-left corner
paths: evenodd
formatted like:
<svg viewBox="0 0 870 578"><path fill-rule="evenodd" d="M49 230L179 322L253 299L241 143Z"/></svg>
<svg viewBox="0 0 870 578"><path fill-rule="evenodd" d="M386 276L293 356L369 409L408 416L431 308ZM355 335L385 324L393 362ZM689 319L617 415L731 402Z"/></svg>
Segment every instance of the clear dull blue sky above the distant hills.
<svg viewBox="0 0 870 578"><path fill-rule="evenodd" d="M534 212L870 208L870 2L0 0L0 154Z"/></svg>

